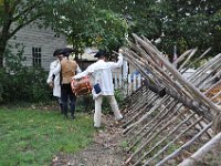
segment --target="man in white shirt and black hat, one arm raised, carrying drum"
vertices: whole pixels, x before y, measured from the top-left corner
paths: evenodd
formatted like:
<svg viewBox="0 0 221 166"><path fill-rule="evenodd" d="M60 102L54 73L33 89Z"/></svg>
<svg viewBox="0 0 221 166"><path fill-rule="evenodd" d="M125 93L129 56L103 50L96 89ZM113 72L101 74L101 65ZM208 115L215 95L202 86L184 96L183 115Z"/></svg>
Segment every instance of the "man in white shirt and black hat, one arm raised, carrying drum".
<svg viewBox="0 0 221 166"><path fill-rule="evenodd" d="M116 68L120 68L123 64L123 50L119 49L118 61L117 62L106 62L107 53L106 51L99 50L94 56L98 59L97 62L91 64L84 72L76 74L73 76L74 80L81 79L86 75L92 75L93 84L99 84L101 92L95 92L93 89L92 94L95 100L95 113L94 113L94 126L101 127L101 118L102 118L102 102L103 96L108 98L108 102L112 106L112 111L114 112L115 118L120 121L123 115L119 112L117 101L114 96L114 84L112 70Z"/></svg>

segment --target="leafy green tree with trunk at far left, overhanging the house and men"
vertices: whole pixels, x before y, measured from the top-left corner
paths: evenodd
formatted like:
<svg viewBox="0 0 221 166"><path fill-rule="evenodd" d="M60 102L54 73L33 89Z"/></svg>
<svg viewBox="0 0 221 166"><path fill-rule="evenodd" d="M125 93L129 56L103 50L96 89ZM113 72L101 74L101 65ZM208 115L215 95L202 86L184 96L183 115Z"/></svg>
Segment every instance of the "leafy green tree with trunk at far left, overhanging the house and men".
<svg viewBox="0 0 221 166"><path fill-rule="evenodd" d="M30 23L64 33L76 55L85 45L120 45L128 28L120 15L96 9L93 0L1 0L0 14L0 66L8 41Z"/></svg>

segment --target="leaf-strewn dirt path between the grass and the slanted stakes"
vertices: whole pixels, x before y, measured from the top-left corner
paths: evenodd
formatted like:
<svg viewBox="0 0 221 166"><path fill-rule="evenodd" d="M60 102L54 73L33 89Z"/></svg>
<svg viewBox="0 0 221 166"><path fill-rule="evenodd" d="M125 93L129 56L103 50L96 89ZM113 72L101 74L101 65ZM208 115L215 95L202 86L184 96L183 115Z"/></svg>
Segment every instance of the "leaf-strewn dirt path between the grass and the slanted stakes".
<svg viewBox="0 0 221 166"><path fill-rule="evenodd" d="M124 160L123 136L113 117L103 117L105 127L97 129L94 142L77 154L59 154L51 166L120 166Z"/></svg>

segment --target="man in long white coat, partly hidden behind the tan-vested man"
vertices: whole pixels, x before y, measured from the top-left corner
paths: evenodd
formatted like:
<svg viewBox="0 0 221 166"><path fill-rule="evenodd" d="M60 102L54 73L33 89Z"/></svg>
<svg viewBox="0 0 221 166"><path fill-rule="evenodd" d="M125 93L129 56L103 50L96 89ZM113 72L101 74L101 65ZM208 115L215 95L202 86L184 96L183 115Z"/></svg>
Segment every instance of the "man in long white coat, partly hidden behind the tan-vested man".
<svg viewBox="0 0 221 166"><path fill-rule="evenodd" d="M60 110L62 112L62 101L61 101L61 84L60 84L60 74L54 75L53 70L62 60L62 55L60 54L61 49L56 49L53 53L53 56L56 56L56 60L50 63L50 72L46 79L46 83L51 89L53 89L53 96L57 97Z"/></svg>

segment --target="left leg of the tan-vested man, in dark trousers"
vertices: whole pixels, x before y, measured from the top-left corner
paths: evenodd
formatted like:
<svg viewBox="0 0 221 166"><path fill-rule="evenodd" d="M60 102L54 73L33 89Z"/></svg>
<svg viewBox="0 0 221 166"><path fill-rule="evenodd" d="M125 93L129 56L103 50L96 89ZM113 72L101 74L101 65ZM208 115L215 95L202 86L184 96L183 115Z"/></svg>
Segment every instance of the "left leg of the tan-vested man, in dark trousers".
<svg viewBox="0 0 221 166"><path fill-rule="evenodd" d="M62 113L64 117L67 117L67 89L66 84L61 86L61 98L62 98Z"/></svg>

